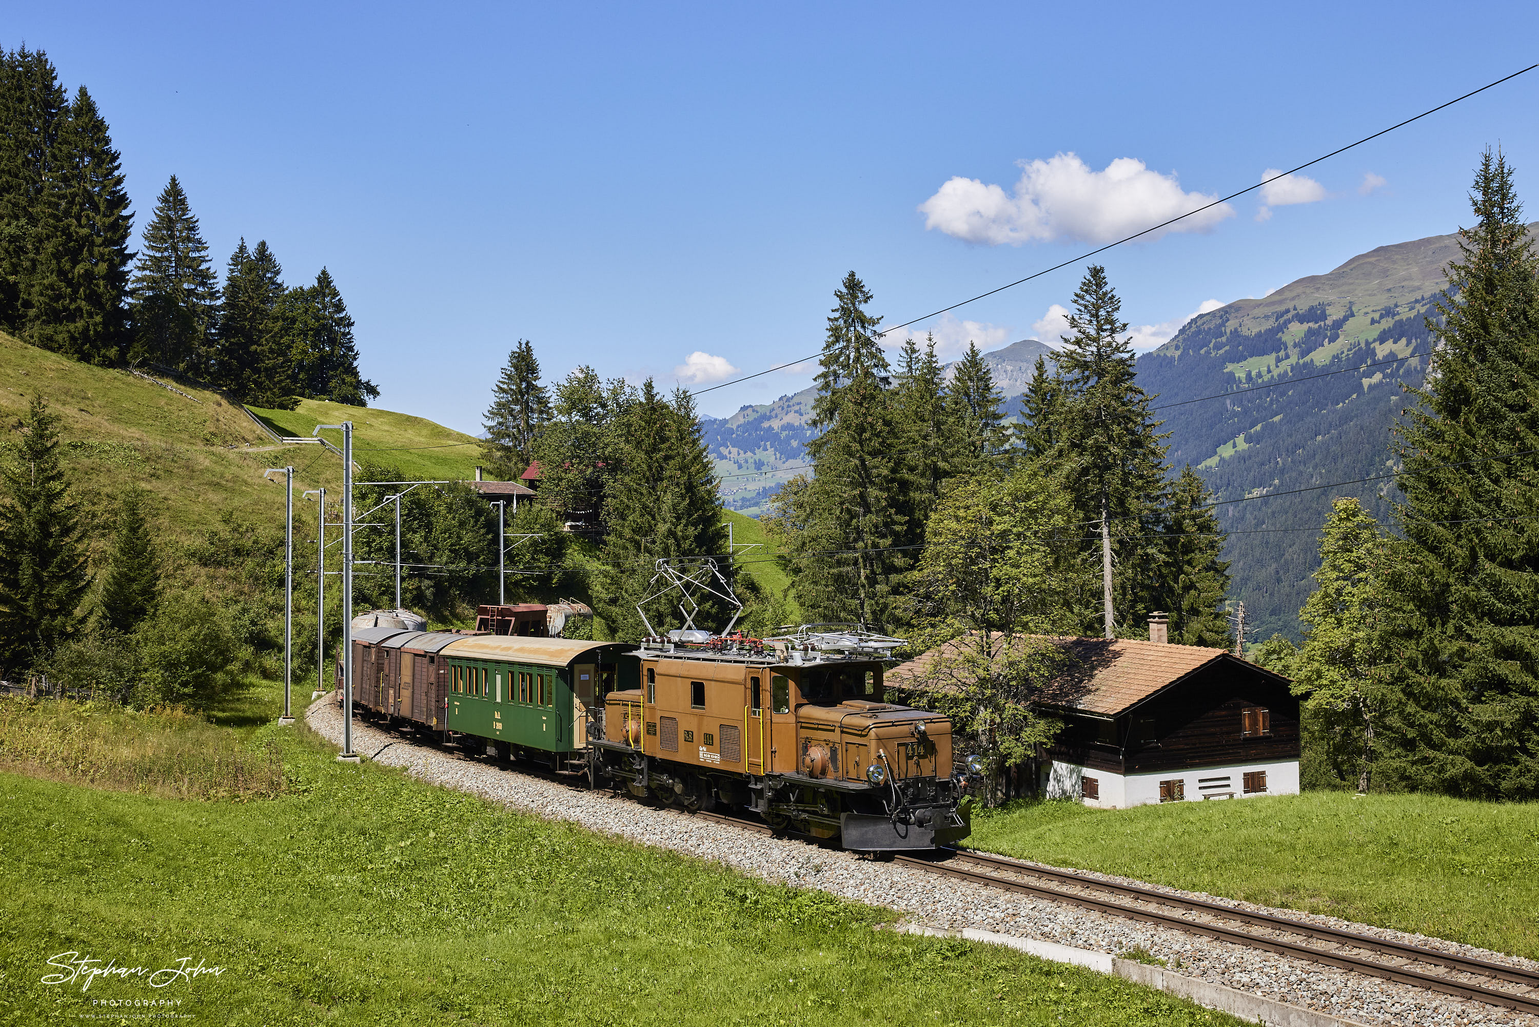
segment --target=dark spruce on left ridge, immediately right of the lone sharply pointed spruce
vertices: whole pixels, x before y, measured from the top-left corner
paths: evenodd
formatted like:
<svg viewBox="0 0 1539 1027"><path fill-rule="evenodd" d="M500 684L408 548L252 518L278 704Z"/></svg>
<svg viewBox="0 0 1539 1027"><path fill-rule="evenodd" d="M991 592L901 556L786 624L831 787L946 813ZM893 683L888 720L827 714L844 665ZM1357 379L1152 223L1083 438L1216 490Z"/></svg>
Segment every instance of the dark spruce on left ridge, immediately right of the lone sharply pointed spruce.
<svg viewBox="0 0 1539 1027"><path fill-rule="evenodd" d="M219 306L212 377L242 402L280 406L294 393L292 359L277 316L283 268L266 240L229 256Z"/></svg>

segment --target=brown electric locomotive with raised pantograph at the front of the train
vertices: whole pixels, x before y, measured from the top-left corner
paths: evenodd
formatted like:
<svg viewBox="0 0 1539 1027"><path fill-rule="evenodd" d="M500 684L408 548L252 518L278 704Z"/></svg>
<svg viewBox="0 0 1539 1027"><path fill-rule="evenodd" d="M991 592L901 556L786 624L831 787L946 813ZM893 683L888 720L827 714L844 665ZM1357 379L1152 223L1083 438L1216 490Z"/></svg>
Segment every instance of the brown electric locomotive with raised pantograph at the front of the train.
<svg viewBox="0 0 1539 1027"><path fill-rule="evenodd" d="M669 631L625 659L589 773L686 808L760 813L845 848L931 848L970 831L951 722L882 701L899 639L803 625L774 639Z"/></svg>

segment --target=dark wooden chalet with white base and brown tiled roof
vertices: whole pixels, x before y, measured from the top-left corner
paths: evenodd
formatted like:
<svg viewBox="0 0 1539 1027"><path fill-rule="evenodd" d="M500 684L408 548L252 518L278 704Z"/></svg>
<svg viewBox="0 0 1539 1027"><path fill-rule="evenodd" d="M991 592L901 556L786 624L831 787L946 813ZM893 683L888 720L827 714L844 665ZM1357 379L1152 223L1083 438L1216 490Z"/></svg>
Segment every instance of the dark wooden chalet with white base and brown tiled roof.
<svg viewBox="0 0 1539 1027"><path fill-rule="evenodd" d="M1151 624L1163 639L1165 624ZM1042 691L1063 721L1039 753L1037 795L1125 808L1299 791L1299 699L1288 679L1220 648L1142 639L1042 639L1065 653ZM923 688L934 653L888 687Z"/></svg>

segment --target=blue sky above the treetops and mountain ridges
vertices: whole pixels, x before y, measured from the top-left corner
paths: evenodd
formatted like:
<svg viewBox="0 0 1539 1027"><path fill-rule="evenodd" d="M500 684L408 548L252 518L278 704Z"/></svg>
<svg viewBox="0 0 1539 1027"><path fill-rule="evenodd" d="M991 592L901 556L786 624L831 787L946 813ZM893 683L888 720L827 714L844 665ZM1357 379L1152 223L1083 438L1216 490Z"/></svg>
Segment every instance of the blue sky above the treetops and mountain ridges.
<svg viewBox="0 0 1539 1027"><path fill-rule="evenodd" d="M331 269L380 406L479 431L519 337L553 379L794 360L851 268L888 323L1023 277L1531 63L1536 11L8 3L0 43L91 89L139 225L177 174L220 269L242 236L289 283ZM1539 71L1105 254L1139 342L1451 231L1488 143L1539 217L1536 100ZM916 328L1031 337L1079 274Z"/></svg>

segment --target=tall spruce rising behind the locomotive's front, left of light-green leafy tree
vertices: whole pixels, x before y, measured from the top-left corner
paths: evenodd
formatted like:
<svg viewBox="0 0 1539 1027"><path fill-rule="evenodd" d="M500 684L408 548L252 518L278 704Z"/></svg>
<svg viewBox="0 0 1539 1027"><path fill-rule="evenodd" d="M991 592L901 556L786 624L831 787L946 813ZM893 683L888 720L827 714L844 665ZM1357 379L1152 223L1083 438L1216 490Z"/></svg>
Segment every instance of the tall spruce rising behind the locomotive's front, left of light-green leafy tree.
<svg viewBox="0 0 1539 1027"><path fill-rule="evenodd" d="M773 528L796 568L794 590L817 621L896 627L897 585L911 564L903 431L877 345L880 317L854 271L834 291L808 443L811 479L782 488Z"/></svg>

